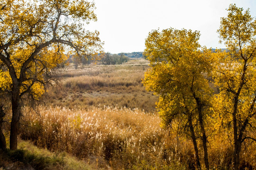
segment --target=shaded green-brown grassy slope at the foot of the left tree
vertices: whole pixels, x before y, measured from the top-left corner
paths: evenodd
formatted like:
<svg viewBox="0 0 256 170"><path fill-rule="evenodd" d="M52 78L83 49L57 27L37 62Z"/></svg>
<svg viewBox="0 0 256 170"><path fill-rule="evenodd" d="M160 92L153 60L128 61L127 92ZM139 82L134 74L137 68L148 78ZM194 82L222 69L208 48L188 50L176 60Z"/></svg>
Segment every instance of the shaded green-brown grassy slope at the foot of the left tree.
<svg viewBox="0 0 256 170"><path fill-rule="evenodd" d="M17 151L0 153L0 170L92 170L88 163L67 153L40 149L29 141L18 141Z"/></svg>

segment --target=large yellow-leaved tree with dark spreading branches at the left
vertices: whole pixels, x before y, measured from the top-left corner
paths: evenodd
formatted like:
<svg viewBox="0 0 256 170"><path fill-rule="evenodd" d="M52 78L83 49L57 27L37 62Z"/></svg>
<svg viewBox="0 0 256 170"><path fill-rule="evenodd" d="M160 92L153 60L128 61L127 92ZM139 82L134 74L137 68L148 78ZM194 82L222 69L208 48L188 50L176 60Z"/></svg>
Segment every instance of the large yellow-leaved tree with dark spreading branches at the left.
<svg viewBox="0 0 256 170"><path fill-rule="evenodd" d="M86 0L0 0L0 89L11 98L11 150L24 100L39 100L65 54L97 58L101 52L99 33L82 24L97 20L94 8Z"/></svg>

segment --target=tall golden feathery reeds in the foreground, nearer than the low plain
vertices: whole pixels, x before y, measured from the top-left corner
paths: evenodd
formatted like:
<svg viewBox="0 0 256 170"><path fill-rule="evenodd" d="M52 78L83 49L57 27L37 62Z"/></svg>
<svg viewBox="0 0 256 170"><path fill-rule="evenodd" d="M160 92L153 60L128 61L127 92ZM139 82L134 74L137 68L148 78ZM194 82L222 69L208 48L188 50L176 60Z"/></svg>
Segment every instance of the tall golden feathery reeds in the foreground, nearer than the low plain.
<svg viewBox="0 0 256 170"><path fill-rule="evenodd" d="M189 143L184 143L189 147L178 153L177 146L167 142L170 136L159 126L159 117L137 109L70 110L41 106L40 115L25 112L22 139L52 151L71 153L97 163L99 168L184 169L188 159L185 155L192 150ZM179 161L181 158L183 161Z"/></svg>

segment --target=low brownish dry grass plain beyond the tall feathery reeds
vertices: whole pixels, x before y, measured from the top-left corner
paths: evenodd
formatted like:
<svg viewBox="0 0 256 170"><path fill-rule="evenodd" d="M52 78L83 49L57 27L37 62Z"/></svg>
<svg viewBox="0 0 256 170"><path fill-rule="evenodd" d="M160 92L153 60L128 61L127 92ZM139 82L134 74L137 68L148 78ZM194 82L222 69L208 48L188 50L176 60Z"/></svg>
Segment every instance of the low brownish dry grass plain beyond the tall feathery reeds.
<svg viewBox="0 0 256 170"><path fill-rule="evenodd" d="M60 85L46 93L46 105L70 109L102 108L105 105L155 112L157 97L152 92L146 92L141 83L148 66L143 64L144 60L132 62L137 64L65 68L57 75L61 77Z"/></svg>

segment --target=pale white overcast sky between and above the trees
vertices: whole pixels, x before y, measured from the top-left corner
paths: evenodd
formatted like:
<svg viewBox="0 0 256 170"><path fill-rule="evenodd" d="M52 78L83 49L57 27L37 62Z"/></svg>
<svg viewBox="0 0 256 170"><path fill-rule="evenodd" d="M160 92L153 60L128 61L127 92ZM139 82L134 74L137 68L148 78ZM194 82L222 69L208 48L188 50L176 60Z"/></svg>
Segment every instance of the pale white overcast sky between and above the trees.
<svg viewBox="0 0 256 170"><path fill-rule="evenodd" d="M249 8L256 17L256 0L94 0L98 20L86 29L100 32L104 51L139 52L152 30L166 28L200 31L200 44L225 48L219 43L220 18L227 17L229 4Z"/></svg>

